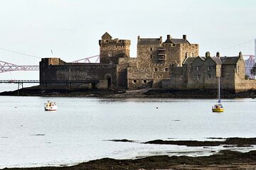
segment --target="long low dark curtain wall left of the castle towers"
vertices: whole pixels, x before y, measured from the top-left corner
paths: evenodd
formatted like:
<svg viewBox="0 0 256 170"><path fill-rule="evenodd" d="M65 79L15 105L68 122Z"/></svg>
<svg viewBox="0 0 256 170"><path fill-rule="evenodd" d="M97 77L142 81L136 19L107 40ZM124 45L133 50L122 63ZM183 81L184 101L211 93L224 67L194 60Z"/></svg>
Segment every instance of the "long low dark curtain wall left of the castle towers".
<svg viewBox="0 0 256 170"><path fill-rule="evenodd" d="M100 89L117 86L117 65L115 64L66 63L47 65L43 61L41 62L41 82L87 81L95 84L92 85L93 88ZM107 86L105 81L110 81ZM100 85L97 87L97 84Z"/></svg>

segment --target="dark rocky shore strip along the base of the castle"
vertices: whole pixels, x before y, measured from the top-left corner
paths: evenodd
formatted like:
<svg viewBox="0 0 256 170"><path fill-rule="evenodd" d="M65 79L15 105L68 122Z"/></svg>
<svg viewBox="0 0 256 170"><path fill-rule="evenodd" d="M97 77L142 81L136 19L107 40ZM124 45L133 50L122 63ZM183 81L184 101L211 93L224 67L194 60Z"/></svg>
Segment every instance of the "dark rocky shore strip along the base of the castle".
<svg viewBox="0 0 256 170"><path fill-rule="evenodd" d="M256 90L233 93L221 91L221 98L255 98ZM102 98L216 98L215 90L174 90L174 89L141 89L125 90L88 90L88 89L41 89L32 86L16 91L4 91L0 96L55 96L55 97L102 97Z"/></svg>

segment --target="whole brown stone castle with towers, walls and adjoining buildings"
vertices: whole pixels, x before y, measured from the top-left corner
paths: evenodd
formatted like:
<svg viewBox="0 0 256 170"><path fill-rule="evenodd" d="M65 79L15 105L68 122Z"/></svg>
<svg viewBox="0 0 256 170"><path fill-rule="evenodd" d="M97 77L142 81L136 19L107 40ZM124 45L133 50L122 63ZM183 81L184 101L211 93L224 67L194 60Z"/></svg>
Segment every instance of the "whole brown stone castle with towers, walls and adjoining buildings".
<svg viewBox="0 0 256 170"><path fill-rule="evenodd" d="M41 86L82 89L216 89L245 91L256 85L245 79L245 62L238 57L198 56L199 45L186 35L166 40L137 39L137 57L129 56L130 40L112 38L109 33L99 40L100 63L67 63L60 58L40 62Z"/></svg>

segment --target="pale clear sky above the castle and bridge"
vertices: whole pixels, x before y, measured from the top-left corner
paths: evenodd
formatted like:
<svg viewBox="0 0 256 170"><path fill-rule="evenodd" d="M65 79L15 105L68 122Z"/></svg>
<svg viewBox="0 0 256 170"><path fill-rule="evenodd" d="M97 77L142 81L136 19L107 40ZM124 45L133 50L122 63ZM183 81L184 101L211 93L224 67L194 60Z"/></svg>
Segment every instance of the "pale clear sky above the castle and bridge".
<svg viewBox="0 0 256 170"><path fill-rule="evenodd" d="M166 39L187 35L204 56L254 54L255 0L0 0L0 60L39 64L40 57L72 62L100 53L98 40L107 31L113 38L137 36ZM21 52L37 57L18 55ZM51 54L53 50L53 55ZM39 57L39 58L38 58ZM25 76L26 74L26 76ZM19 79L38 79L39 72L23 72ZM0 74L17 79L18 73Z"/></svg>

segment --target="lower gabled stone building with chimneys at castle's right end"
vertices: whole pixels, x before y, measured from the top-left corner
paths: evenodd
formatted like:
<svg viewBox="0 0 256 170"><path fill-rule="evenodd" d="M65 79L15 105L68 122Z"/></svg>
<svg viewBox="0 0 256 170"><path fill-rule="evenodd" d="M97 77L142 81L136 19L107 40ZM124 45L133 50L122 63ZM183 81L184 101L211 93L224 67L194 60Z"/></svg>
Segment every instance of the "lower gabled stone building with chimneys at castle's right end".
<svg viewBox="0 0 256 170"><path fill-rule="evenodd" d="M236 57L186 57L182 67L171 69L171 79L163 82L167 89L217 89L239 92L253 89L255 80L245 79L245 62L240 52Z"/></svg>

